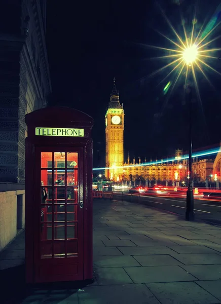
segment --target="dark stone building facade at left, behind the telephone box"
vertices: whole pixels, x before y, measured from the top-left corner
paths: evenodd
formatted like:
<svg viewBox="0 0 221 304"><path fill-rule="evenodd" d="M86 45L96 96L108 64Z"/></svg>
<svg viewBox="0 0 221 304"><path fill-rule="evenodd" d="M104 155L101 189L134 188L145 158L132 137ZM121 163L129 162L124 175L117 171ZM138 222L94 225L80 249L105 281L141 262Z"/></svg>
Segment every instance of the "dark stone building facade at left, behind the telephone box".
<svg viewBox="0 0 221 304"><path fill-rule="evenodd" d="M0 250L24 227L24 117L51 93L45 29L46 0L0 4Z"/></svg>

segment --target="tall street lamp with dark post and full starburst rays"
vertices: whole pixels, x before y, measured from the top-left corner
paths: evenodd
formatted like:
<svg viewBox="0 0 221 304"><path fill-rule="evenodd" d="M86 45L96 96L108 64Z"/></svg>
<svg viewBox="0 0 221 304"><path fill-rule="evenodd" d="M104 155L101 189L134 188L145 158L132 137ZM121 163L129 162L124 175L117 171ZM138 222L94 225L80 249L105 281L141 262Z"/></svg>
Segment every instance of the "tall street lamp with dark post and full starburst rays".
<svg viewBox="0 0 221 304"><path fill-rule="evenodd" d="M161 10L162 11L162 10ZM166 77L160 82L163 83L168 77L172 77L172 75L176 72L176 76L174 80L169 81L169 83L164 88L164 91L167 93L169 89L169 84L173 83L171 86L169 96L172 94L173 89L175 88L178 80L183 78L184 85L184 96L187 99L189 104L189 172L190 178L188 183L188 191L187 191L187 210L186 210L186 219L193 220L194 219L194 197L193 197L193 181L192 181L192 105L191 105L191 82L190 82L190 75L191 79L193 79L193 83L195 86L196 94L198 97L198 101L202 108L202 101L200 97L199 86L197 83L197 74L198 72L203 75L206 81L211 85L211 82L206 74L205 68L207 70L211 70L219 75L216 69L214 69L208 60L216 59L218 56L212 56L212 54L216 51L220 51L220 48L209 48L213 42L215 42L220 35L217 37L212 38L212 34L214 34L215 29L220 25L219 15L221 12L221 5L217 7L214 15L208 22L206 26L201 26L196 30L196 14L194 15L192 21L192 29L188 31L185 26L184 19L182 19L182 27L183 27L183 35L179 35L176 29L172 26L169 19L166 17L164 12L162 14L167 21L170 29L175 34L175 40L170 39L163 33L158 33L162 35L167 41L169 41L173 47L171 48L164 48L164 47L155 47L149 46L152 48L156 48L161 51L165 51L167 54L160 57L155 57L155 59L166 59L170 60L169 63L164 65L163 67L159 68L158 70L154 71L151 75L155 75L159 72L162 72L164 69L170 68L171 70L167 72ZM190 73L191 72L191 73ZM211 85L212 86L212 85ZM165 104L163 105L163 109L168 102L169 97L166 99ZM163 110L162 109L162 110Z"/></svg>

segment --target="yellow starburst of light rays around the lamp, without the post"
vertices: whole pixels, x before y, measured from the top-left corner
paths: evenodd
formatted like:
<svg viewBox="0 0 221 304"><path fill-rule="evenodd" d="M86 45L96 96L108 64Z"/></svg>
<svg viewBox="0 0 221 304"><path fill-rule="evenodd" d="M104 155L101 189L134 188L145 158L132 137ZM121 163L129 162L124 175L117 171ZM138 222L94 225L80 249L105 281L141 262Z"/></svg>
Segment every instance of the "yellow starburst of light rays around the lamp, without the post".
<svg viewBox="0 0 221 304"><path fill-rule="evenodd" d="M198 86L198 76L201 74L203 78L209 83L209 85L212 86L207 74L208 71L221 75L221 73L211 65L211 61L214 59L217 60L218 58L218 56L215 56L215 52L221 51L221 48L210 47L221 37L221 35L213 37L215 30L217 30L221 24L221 7L219 6L216 9L215 14L213 14L213 16L210 18L209 22L207 24L204 23L200 28L197 27L199 19L197 19L196 12L194 13L192 21L189 24L187 24L185 19L181 16L182 32L180 33L172 25L170 20L165 15L164 11L161 8L160 10L169 28L174 34L174 39L171 39L164 33L156 30L158 34L170 42L171 47L168 46L164 48L163 46L142 44L142 46L165 52L165 55L162 54L159 57L154 57L151 59L167 60L167 63L165 65L152 72L149 77L152 77L166 70L166 77L163 79L163 81L165 81L168 79L169 75L174 74L173 85L171 86L167 100L164 101L163 108L165 108L165 104L168 102L169 97L172 95L175 85L178 84L178 81L183 78L183 83L185 84L184 88L187 88L187 81L189 80L189 74L191 74L196 94L202 108L202 101Z"/></svg>

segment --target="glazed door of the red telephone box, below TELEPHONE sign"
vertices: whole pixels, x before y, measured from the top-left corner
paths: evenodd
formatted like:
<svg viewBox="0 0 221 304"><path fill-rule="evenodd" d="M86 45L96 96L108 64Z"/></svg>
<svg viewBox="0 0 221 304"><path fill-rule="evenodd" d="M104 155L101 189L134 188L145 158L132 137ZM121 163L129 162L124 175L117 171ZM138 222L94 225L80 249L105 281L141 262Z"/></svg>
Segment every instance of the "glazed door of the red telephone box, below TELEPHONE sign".
<svg viewBox="0 0 221 304"><path fill-rule="evenodd" d="M84 148L37 147L34 282L83 280Z"/></svg>

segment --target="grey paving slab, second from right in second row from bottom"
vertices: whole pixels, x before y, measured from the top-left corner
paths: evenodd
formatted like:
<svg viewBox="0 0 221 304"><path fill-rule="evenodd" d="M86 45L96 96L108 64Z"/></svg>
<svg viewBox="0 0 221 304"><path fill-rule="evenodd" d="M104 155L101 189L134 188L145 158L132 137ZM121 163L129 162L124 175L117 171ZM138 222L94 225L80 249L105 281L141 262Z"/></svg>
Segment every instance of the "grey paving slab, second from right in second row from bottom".
<svg viewBox="0 0 221 304"><path fill-rule="evenodd" d="M197 280L190 273L176 265L139 268L125 267L124 269L134 283L160 283Z"/></svg>

